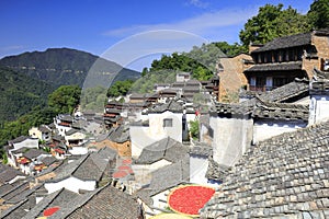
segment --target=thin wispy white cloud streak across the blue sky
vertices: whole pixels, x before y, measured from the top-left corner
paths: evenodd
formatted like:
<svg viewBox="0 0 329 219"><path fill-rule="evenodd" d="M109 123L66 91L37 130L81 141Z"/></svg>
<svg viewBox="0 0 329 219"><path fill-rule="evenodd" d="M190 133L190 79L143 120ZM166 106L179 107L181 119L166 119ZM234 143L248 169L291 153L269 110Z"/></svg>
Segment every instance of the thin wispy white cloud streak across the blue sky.
<svg viewBox="0 0 329 219"><path fill-rule="evenodd" d="M218 10L178 21L175 23L140 24L111 30L106 32L105 35L123 37L147 31L177 30L207 36L208 34L214 34L214 30L216 28L243 24L249 18L257 14L257 11L258 8Z"/></svg>

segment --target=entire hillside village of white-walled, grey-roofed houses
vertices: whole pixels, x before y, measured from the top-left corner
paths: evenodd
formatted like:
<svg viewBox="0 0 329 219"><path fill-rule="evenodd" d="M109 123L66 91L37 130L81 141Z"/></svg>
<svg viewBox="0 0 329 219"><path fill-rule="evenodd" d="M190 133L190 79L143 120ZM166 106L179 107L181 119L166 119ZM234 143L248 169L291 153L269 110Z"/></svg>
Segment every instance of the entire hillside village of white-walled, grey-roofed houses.
<svg viewBox="0 0 329 219"><path fill-rule="evenodd" d="M328 37L250 45L211 80L180 72L103 114L77 107L31 128L5 147L0 217L179 215L170 194L198 185L214 195L185 217L329 218Z"/></svg>

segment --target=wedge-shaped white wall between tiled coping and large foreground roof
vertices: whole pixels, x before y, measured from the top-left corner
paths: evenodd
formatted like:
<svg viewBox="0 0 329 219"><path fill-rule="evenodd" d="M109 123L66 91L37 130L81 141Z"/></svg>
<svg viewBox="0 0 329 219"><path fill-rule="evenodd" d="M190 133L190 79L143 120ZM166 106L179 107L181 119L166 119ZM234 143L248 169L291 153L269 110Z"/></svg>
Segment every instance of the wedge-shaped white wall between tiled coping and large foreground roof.
<svg viewBox="0 0 329 219"><path fill-rule="evenodd" d="M305 128L306 123L302 122L256 122L253 126L253 143L266 140L274 136L279 136L284 132L295 131L298 128Z"/></svg>

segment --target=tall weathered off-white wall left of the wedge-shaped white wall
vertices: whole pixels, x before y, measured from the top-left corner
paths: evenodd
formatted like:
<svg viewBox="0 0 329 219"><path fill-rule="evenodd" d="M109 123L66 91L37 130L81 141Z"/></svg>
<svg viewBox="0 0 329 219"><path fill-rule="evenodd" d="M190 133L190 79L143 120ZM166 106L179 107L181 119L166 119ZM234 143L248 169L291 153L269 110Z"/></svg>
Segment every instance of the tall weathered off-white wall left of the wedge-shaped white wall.
<svg viewBox="0 0 329 219"><path fill-rule="evenodd" d="M231 166L251 145L252 119L212 116L209 124L214 130L214 161Z"/></svg>

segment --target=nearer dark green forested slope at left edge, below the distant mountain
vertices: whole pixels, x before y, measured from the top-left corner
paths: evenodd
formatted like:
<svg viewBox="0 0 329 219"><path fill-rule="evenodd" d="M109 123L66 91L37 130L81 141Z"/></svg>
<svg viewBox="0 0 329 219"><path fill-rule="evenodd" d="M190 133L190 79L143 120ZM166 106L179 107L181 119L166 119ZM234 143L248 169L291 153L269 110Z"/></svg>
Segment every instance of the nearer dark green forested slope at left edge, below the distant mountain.
<svg viewBox="0 0 329 219"><path fill-rule="evenodd" d="M55 90L55 85L9 68L1 67L0 76L0 124L46 105L48 94Z"/></svg>

